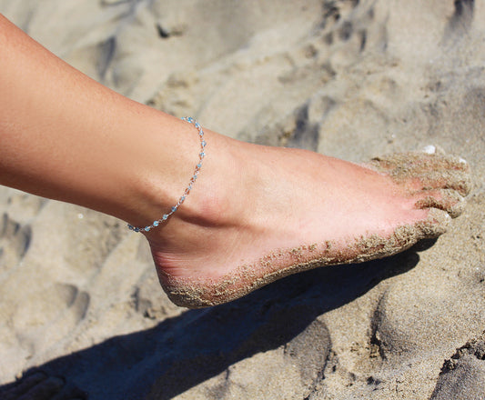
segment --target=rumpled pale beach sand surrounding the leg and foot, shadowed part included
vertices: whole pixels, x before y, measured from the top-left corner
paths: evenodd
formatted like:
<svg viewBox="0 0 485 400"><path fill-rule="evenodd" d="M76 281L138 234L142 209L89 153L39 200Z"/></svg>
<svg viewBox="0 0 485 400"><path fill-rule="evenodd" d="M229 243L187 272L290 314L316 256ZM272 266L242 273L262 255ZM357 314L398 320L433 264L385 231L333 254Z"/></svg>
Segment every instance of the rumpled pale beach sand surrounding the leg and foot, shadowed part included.
<svg viewBox="0 0 485 400"><path fill-rule="evenodd" d="M485 398L484 2L0 0L0 12L116 91L225 135L355 162L435 145L474 182L437 240L190 311L122 222L2 187L0 393L40 369L91 400Z"/></svg>

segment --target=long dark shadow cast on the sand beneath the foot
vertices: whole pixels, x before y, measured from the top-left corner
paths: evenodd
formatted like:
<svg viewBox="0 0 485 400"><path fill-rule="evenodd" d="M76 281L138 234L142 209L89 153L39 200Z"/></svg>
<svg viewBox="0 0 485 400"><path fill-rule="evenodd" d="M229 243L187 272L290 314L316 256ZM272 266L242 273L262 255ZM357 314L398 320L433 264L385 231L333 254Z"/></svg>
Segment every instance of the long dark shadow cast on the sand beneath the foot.
<svg viewBox="0 0 485 400"><path fill-rule="evenodd" d="M227 305L188 310L35 370L64 376L90 400L143 399L156 382L164 388L157 399L171 399L242 359L287 344L318 315L409 271L422 246L381 260L291 275Z"/></svg>

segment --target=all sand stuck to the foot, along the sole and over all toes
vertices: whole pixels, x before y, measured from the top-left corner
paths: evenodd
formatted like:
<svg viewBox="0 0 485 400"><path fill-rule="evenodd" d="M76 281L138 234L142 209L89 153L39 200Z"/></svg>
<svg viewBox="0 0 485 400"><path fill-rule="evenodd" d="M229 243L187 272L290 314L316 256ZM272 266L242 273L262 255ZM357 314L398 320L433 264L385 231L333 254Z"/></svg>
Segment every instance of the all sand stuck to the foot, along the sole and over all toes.
<svg viewBox="0 0 485 400"><path fill-rule="evenodd" d="M418 181L425 194L416 208L429 209L425 220L415 225L398 226L392 235L369 234L349 238L345 243L327 240L321 244L300 245L278 249L257 262L237 266L233 272L219 278L180 278L160 272L160 282L168 297L177 305L200 308L220 305L268 285L284 276L325 265L352 264L395 255L420 239L434 238L446 232L451 217L464 208L463 195L471 187L470 166L460 158L433 151L375 157L368 164L374 170L389 175L398 185ZM426 195L427 186L436 195Z"/></svg>

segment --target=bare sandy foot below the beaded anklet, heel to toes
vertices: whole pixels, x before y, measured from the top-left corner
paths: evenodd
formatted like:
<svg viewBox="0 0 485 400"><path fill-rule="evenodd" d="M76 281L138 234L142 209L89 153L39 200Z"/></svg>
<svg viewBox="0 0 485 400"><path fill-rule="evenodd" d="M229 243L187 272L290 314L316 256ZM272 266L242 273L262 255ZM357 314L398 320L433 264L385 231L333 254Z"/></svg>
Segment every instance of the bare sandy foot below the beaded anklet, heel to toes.
<svg viewBox="0 0 485 400"><path fill-rule="evenodd" d="M146 234L162 286L186 307L226 303L310 268L399 253L444 233L470 191L469 166L450 155L355 165L206 136L206 164L186 203Z"/></svg>

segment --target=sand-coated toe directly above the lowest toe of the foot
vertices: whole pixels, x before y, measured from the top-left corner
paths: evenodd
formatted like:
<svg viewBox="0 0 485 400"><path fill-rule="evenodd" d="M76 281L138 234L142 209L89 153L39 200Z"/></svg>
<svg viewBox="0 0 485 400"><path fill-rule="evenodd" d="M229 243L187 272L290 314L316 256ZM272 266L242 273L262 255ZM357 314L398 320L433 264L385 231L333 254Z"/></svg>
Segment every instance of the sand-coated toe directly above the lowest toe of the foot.
<svg viewBox="0 0 485 400"><path fill-rule="evenodd" d="M419 209L438 208L456 218L465 207L464 197L452 189L424 191L414 196L414 206Z"/></svg>

